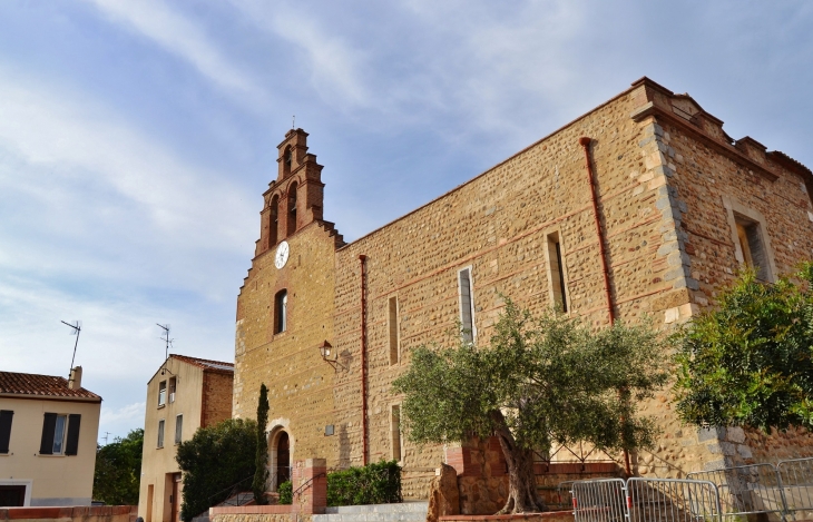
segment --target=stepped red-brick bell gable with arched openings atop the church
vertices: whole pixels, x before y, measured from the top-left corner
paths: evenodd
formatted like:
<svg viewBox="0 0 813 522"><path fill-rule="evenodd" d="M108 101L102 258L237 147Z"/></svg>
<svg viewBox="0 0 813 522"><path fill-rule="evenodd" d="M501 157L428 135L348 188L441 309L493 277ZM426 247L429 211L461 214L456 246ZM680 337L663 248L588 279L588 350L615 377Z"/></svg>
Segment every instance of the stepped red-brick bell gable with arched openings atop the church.
<svg viewBox="0 0 813 522"><path fill-rule="evenodd" d="M322 165L307 152L307 132L291 129L277 145L277 176L263 194L259 240L255 255L274 248L296 230L322 221Z"/></svg>

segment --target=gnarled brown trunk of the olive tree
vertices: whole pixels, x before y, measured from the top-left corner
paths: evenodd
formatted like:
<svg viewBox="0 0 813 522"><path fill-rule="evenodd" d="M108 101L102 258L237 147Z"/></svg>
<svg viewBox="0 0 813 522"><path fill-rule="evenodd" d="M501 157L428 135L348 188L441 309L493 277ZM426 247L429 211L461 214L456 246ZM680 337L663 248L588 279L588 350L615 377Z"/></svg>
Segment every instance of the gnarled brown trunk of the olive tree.
<svg viewBox="0 0 813 522"><path fill-rule="evenodd" d="M500 447L502 447L506 463L508 463L508 500L498 514L548 511L548 506L537 491L533 451L517 445L501 412L492 412L491 418L499 426L494 434L500 441Z"/></svg>

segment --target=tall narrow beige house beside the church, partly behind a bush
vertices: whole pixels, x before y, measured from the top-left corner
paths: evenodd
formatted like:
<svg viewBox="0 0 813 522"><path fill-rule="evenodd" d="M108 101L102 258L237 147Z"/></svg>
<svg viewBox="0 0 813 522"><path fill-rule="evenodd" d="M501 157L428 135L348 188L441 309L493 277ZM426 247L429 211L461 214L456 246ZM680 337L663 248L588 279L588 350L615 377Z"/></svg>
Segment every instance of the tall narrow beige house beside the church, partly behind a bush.
<svg viewBox="0 0 813 522"><path fill-rule="evenodd" d="M232 417L234 365L170 354L147 384L138 515L146 522L178 521L180 470L177 445L198 427Z"/></svg>

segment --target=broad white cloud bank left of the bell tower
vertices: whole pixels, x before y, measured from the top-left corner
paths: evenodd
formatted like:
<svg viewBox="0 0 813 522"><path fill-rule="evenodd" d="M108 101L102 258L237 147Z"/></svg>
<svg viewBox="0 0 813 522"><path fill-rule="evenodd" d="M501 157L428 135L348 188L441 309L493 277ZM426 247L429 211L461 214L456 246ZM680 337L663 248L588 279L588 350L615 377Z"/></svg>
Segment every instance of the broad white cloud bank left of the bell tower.
<svg viewBox="0 0 813 522"><path fill-rule="evenodd" d="M0 266L50 272L71 262L75 273L129 277L163 267L174 286L198 288L210 276L182 256L205 264L253 242L256 208L246 201L256 196L225 173L178 158L81 96L1 67L0 77L0 201L20 205L9 220L29 230L0 229L0 238L32 246L13 256L6 249Z"/></svg>

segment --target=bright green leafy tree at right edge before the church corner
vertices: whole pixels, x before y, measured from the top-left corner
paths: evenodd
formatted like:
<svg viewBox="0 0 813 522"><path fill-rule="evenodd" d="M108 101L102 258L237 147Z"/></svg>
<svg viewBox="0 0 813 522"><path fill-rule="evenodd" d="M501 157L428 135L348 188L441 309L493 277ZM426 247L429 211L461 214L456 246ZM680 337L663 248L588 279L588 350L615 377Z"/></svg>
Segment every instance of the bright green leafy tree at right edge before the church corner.
<svg viewBox="0 0 813 522"><path fill-rule="evenodd" d="M811 263L773 285L745 272L679 333L675 394L685 422L813 429L811 288Z"/></svg>

